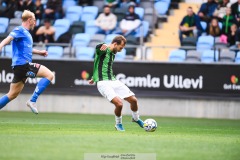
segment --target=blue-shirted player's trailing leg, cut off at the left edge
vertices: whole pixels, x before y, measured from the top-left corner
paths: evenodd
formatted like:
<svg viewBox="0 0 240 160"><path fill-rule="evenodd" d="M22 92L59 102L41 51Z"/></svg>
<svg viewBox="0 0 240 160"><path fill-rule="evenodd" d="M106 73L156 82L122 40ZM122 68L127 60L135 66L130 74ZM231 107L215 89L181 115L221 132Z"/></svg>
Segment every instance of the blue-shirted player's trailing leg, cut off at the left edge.
<svg viewBox="0 0 240 160"><path fill-rule="evenodd" d="M0 98L0 109L6 106L11 100L15 99L22 91L24 83L22 81L11 83L9 92Z"/></svg>

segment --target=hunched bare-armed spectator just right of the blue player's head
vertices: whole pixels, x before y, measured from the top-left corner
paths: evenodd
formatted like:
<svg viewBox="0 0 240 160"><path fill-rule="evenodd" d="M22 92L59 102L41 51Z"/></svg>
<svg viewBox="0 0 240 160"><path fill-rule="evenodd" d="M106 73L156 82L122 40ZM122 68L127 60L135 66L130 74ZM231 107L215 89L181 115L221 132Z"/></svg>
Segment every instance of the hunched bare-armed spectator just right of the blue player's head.
<svg viewBox="0 0 240 160"><path fill-rule="evenodd" d="M51 21L49 19L45 19L44 26L40 27L37 30L36 36L38 36L39 42L53 43L54 33L55 33L55 28L51 25Z"/></svg>

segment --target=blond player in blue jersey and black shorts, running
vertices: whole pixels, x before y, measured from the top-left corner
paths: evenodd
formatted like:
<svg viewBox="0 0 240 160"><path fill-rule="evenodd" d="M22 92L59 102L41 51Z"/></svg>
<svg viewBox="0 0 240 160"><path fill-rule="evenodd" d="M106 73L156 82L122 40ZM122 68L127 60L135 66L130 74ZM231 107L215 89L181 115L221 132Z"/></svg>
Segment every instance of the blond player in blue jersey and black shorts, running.
<svg viewBox="0 0 240 160"><path fill-rule="evenodd" d="M0 98L0 109L19 95L28 77L42 77L38 82L31 99L26 103L33 113L38 114L36 105L38 96L46 89L54 78L53 73L47 67L32 63L32 54L42 56L48 55L46 50L32 48L33 40L29 30L34 28L35 23L36 19L34 13L25 10L22 14L22 25L16 27L8 37L0 43L1 51L5 45L12 41L12 69L14 73L9 92Z"/></svg>

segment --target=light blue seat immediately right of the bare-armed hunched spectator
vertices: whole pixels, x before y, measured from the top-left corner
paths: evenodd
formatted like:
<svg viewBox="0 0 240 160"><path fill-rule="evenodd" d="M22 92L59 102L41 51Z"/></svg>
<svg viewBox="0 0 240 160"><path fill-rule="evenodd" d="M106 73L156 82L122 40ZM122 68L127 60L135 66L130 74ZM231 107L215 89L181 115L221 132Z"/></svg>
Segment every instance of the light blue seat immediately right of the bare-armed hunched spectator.
<svg viewBox="0 0 240 160"><path fill-rule="evenodd" d="M55 27L54 39L56 41L60 35L68 31L70 21L68 19L57 19L53 26Z"/></svg>

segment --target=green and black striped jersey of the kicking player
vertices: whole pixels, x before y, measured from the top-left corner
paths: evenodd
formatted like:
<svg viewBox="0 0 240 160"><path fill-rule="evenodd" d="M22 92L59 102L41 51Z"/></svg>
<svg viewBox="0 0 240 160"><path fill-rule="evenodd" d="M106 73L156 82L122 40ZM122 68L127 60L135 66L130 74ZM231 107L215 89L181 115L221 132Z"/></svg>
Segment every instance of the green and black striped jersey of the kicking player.
<svg viewBox="0 0 240 160"><path fill-rule="evenodd" d="M93 81L103 81L103 80L116 80L113 75L113 61L115 54L107 48L106 51L101 51L100 48L103 44L96 46L95 58L94 58L94 68L93 68Z"/></svg>

